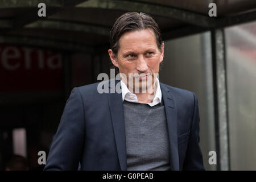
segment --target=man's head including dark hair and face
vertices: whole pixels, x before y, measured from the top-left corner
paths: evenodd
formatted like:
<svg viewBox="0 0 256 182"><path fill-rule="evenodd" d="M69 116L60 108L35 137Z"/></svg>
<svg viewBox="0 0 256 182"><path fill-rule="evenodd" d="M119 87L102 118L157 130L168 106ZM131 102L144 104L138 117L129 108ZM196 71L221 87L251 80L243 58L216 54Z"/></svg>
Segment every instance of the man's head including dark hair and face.
<svg viewBox="0 0 256 182"><path fill-rule="evenodd" d="M120 73L127 79L129 73L146 75L133 77L139 80L140 88L147 76L152 76L154 84L154 74L159 72L163 61L164 44L158 24L151 16L136 12L120 16L110 32L110 46L110 59Z"/></svg>

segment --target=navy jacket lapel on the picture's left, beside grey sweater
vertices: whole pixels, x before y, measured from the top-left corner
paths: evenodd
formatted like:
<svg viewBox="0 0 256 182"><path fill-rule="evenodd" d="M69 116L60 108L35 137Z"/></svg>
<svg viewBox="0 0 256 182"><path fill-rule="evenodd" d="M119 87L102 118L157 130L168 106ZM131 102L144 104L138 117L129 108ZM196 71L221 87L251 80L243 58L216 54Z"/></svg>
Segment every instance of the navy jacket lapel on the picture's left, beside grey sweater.
<svg viewBox="0 0 256 182"><path fill-rule="evenodd" d="M119 80L114 81L115 84ZM109 82L109 88L111 89L115 84ZM113 89L113 88L112 88ZM117 154L119 159L119 164L122 171L127 170L127 159L126 159L126 139L125 139L125 119L123 117L123 102L122 94L118 93L108 93L109 108L112 117L112 124L114 130L115 144L117 146Z"/></svg>

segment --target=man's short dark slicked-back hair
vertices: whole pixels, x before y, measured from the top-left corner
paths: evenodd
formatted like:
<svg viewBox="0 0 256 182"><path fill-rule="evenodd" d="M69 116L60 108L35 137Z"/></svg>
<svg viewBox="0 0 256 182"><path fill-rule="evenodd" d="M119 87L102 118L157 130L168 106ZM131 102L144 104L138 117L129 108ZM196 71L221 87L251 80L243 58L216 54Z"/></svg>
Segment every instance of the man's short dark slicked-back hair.
<svg viewBox="0 0 256 182"><path fill-rule="evenodd" d="M119 18L115 20L112 30L110 31L109 42L113 53L117 54L119 39L123 34L125 34L125 32L140 31L147 28L154 31L156 44L160 50L163 44L160 28L150 15L145 13L128 12L119 16Z"/></svg>

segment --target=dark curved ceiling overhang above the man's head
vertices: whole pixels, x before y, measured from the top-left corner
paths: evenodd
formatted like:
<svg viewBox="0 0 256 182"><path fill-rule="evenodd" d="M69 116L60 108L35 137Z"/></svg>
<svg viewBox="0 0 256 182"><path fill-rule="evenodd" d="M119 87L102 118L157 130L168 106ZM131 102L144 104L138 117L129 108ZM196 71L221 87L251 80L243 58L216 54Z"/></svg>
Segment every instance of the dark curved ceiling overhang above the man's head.
<svg viewBox="0 0 256 182"><path fill-rule="evenodd" d="M38 16L42 2L47 7L45 18ZM208 16L212 2L217 5L217 17ZM0 43L91 52L93 47L108 45L115 19L127 11L150 14L167 40L253 21L256 1L3 0Z"/></svg>

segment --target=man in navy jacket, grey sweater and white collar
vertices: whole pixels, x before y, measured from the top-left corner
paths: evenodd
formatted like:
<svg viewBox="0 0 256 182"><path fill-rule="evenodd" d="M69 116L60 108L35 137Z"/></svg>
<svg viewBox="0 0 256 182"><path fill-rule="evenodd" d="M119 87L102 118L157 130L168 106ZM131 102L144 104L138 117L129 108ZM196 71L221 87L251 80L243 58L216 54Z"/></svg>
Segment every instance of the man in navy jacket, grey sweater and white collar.
<svg viewBox="0 0 256 182"><path fill-rule="evenodd" d="M119 83L121 93L99 93L99 83L74 88L45 169L204 170L195 94L156 77L164 54L158 24L143 13L123 14L110 46L121 81L108 89Z"/></svg>

